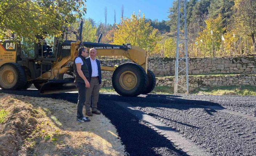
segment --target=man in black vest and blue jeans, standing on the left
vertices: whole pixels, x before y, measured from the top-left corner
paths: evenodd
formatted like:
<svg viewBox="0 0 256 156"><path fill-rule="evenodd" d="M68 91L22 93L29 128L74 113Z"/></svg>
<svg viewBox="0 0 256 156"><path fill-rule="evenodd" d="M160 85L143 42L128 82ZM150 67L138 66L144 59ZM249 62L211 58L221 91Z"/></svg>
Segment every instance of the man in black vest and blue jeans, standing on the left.
<svg viewBox="0 0 256 156"><path fill-rule="evenodd" d="M89 70L85 62L87 56L87 48L80 47L78 56L74 59L73 67L75 73L75 86L78 89L78 105L77 105L77 122L89 122L88 117L83 116L83 105L86 97L86 88L90 87Z"/></svg>

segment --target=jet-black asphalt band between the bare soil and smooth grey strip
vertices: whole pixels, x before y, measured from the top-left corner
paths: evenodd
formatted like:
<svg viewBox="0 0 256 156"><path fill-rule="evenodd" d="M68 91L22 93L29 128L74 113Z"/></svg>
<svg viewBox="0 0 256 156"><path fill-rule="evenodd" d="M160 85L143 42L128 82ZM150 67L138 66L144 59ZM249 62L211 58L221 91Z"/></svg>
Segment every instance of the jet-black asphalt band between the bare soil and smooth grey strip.
<svg viewBox="0 0 256 156"><path fill-rule="evenodd" d="M111 120L116 127L126 151L131 156L181 156L186 152L148 127L135 114L130 113L119 101L127 101L134 97L121 97L117 95L101 94L98 109Z"/></svg>

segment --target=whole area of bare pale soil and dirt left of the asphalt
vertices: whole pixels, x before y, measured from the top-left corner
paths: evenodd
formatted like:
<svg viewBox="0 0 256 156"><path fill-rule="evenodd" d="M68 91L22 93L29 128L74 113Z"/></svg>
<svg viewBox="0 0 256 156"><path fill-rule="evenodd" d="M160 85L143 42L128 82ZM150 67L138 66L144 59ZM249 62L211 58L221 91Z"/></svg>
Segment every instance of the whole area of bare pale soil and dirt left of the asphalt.
<svg viewBox="0 0 256 156"><path fill-rule="evenodd" d="M0 108L8 111L0 124L0 156L126 155L110 120L101 114L78 123L74 103L0 93Z"/></svg>

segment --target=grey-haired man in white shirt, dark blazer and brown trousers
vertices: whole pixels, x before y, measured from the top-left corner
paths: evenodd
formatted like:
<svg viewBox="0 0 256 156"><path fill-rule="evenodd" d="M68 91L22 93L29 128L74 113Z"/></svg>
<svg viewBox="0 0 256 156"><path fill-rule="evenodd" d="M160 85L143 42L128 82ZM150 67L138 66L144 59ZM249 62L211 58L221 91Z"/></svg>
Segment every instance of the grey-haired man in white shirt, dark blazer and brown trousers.
<svg viewBox="0 0 256 156"><path fill-rule="evenodd" d="M97 104L99 101L99 90L102 81L100 61L96 59L97 51L96 49L90 49L90 56L86 58L85 62L89 69L89 82L90 87L86 90L86 101L85 101L85 111L86 115L92 116L92 114L100 114L97 110ZM92 100L92 109L90 109Z"/></svg>

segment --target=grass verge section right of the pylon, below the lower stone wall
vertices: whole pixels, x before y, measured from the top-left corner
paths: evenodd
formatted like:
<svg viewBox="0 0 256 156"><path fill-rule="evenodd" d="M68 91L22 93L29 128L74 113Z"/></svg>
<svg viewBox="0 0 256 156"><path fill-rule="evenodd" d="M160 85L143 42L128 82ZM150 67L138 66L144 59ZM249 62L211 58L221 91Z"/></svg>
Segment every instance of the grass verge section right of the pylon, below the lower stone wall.
<svg viewBox="0 0 256 156"><path fill-rule="evenodd" d="M202 88L202 87L201 87ZM256 96L256 87L250 85L197 88L190 94Z"/></svg>

